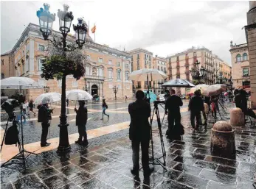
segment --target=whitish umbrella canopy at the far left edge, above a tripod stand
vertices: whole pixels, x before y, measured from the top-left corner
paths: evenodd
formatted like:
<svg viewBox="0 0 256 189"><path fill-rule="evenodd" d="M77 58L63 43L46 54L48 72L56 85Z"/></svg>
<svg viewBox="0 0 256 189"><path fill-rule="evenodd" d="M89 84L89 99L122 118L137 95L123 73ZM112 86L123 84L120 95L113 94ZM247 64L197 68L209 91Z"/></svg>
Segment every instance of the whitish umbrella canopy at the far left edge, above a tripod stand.
<svg viewBox="0 0 256 189"><path fill-rule="evenodd" d="M43 88L38 82L33 79L22 76L11 76L6 79L1 79L1 89L30 89L30 88Z"/></svg>

